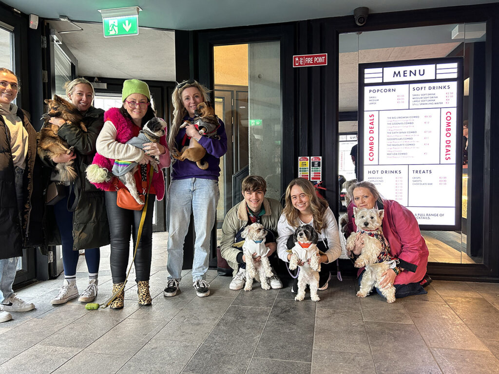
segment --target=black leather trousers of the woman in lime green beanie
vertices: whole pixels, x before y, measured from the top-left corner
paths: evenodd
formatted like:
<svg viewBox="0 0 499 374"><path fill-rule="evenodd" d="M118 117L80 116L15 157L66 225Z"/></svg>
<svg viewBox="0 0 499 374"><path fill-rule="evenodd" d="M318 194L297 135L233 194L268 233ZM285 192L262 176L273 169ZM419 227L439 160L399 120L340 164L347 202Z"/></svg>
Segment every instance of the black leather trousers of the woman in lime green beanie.
<svg viewBox="0 0 499 374"><path fill-rule="evenodd" d="M140 225L141 210L123 209L116 205L116 192L106 191L106 210L111 233L111 275L113 283L125 281L130 255L130 234L133 238L133 250ZM149 195L146 219L142 228L137 255L135 256L135 275L137 281L149 280L151 273L153 211L156 195Z"/></svg>

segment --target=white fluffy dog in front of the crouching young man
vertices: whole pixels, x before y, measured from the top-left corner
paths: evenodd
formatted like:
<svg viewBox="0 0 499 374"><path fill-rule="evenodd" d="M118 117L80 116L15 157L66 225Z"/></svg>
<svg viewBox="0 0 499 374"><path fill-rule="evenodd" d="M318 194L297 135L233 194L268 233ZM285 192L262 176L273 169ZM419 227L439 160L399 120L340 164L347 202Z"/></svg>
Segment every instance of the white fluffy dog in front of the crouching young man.
<svg viewBox="0 0 499 374"><path fill-rule="evenodd" d="M257 274L260 278L261 288L264 290L270 289L267 278L271 277L273 273L267 257L269 248L265 247L266 235L267 231L261 223L251 223L241 233L241 236L245 238L243 243L243 253L246 258L245 291L251 291L253 279L256 278ZM254 257L253 253L256 253ZM256 257L261 257L258 262L252 260Z"/></svg>

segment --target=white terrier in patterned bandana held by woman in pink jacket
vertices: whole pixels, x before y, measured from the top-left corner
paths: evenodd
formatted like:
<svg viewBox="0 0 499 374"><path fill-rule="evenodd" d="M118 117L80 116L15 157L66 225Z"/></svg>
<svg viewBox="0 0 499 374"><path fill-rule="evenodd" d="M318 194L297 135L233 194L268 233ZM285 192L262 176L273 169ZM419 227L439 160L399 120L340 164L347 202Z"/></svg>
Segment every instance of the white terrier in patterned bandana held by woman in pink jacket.
<svg viewBox="0 0 499 374"><path fill-rule="evenodd" d="M357 296L366 297L373 287L376 287L381 291L387 302L393 303L395 301L395 287L393 284L385 288L380 286L383 280L381 275L393 264L389 253L390 247L386 244L381 230L381 222L385 211L383 209L358 209L354 207L353 212L357 231L367 234L362 252L354 264L355 267L365 266L366 268ZM349 251L355 248L355 236L356 233L352 232L346 241L346 249Z"/></svg>

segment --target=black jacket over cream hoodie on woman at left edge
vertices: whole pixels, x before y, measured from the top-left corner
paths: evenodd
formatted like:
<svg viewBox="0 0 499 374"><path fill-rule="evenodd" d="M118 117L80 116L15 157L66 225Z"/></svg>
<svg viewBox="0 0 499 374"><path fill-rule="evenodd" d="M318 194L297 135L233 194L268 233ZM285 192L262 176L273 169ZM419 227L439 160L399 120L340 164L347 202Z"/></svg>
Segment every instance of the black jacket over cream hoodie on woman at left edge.
<svg viewBox="0 0 499 374"><path fill-rule="evenodd" d="M24 172L24 211L19 227L15 196L14 164L10 149L10 132L0 116L0 259L22 256L22 247L43 244L40 203L42 188L39 161L36 157L36 131L29 122L29 114L17 109L28 133L28 152Z"/></svg>

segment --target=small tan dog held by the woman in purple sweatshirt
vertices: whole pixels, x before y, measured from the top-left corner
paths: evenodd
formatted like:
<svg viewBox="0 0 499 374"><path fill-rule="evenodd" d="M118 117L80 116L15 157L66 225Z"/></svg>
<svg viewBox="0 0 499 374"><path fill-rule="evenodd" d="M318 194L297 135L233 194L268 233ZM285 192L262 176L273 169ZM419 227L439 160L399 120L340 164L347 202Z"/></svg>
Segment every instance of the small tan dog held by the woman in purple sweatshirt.
<svg viewBox="0 0 499 374"><path fill-rule="evenodd" d="M219 138L217 135L217 130L219 128L218 118L215 115L215 109L209 101L199 103L194 114L196 117L194 118L192 124L196 126L196 129L198 129L200 135L207 136L209 138ZM180 127L184 128L189 123L189 121L186 121ZM173 149L172 151L173 158L180 161L184 161L186 159L193 161L196 163L198 168L202 170L208 169L208 162L201 161L205 155L206 149L194 138L191 138L189 146L185 146L180 154L176 149Z"/></svg>

